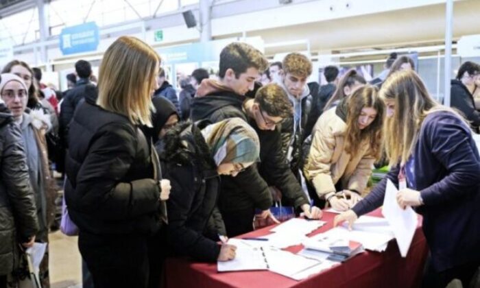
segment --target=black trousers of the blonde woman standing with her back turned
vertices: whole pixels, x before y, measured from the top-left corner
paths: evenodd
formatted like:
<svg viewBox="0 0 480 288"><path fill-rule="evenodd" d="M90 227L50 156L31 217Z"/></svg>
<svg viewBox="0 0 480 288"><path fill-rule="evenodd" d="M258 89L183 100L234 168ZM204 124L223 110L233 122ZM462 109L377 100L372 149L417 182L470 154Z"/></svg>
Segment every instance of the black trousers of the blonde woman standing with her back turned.
<svg viewBox="0 0 480 288"><path fill-rule="evenodd" d="M93 235L80 232L78 247L95 288L147 288L160 283L163 256L152 237L140 234ZM158 243L160 247L165 245ZM152 276L152 279L150 278Z"/></svg>

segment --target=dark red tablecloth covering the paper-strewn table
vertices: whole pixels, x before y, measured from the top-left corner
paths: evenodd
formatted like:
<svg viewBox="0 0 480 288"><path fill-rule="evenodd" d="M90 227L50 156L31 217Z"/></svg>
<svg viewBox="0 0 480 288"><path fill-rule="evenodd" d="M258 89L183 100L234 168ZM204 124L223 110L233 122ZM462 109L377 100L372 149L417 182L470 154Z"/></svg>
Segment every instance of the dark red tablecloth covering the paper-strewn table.
<svg viewBox="0 0 480 288"><path fill-rule="evenodd" d="M370 213L381 216L380 210ZM313 236L333 226L335 214L324 213L327 223L311 233ZM269 234L273 226L245 234L259 237ZM302 245L287 248L296 253ZM194 263L188 259L167 259L165 262L165 287L420 287L423 266L427 259L427 242L421 229L421 217L406 258L400 256L396 241L388 244L385 252L359 254L302 281L296 281L269 271L217 272L216 263Z"/></svg>

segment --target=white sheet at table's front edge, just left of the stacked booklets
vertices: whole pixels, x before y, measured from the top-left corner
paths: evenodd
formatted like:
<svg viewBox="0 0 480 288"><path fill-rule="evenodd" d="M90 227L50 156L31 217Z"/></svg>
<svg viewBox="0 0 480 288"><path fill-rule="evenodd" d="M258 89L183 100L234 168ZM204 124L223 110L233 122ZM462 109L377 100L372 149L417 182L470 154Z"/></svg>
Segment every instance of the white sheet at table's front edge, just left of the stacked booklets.
<svg viewBox="0 0 480 288"><path fill-rule="evenodd" d="M269 270L289 278L293 278L300 272L304 272L320 263L319 261L276 248L266 248L264 251Z"/></svg>

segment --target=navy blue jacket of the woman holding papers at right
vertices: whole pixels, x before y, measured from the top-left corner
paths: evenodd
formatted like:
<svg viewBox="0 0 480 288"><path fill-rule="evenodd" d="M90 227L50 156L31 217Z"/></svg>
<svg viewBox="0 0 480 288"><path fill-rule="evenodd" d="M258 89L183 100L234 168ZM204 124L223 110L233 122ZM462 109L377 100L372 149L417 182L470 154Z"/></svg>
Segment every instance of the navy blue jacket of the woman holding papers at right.
<svg viewBox="0 0 480 288"><path fill-rule="evenodd" d="M415 187L424 205L423 231L437 272L480 260L480 157L468 125L451 112L433 112L412 156ZM398 187L399 167L387 174ZM383 204L383 179L352 210L363 215Z"/></svg>

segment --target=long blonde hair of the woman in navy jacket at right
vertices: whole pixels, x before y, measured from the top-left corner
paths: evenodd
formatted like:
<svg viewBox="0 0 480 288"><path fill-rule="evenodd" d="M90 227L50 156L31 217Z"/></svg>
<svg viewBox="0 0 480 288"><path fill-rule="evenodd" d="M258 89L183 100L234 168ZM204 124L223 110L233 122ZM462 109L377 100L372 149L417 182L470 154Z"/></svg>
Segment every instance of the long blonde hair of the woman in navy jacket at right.
<svg viewBox="0 0 480 288"><path fill-rule="evenodd" d="M425 117L431 112L450 111L463 119L458 112L442 106L428 93L415 71L398 71L388 77L380 90L381 97L394 101L394 114L387 117L384 127L385 151L390 165L404 165L418 141Z"/></svg>

